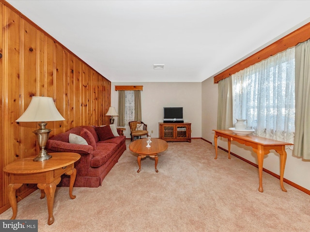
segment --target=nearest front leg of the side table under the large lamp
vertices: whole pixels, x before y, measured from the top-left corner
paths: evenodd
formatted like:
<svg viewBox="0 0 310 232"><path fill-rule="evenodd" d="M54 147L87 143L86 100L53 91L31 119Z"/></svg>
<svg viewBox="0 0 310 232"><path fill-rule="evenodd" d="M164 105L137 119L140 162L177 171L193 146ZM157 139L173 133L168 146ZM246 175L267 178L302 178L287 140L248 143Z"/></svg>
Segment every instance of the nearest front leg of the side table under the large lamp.
<svg viewBox="0 0 310 232"><path fill-rule="evenodd" d="M51 225L54 223L54 216L53 216L53 208L54 208L54 197L55 197L55 190L56 186L61 181L61 178L57 179L56 181L50 184L37 184L38 188L44 189L44 192L47 196L47 210L48 210L48 220L47 224Z"/></svg>

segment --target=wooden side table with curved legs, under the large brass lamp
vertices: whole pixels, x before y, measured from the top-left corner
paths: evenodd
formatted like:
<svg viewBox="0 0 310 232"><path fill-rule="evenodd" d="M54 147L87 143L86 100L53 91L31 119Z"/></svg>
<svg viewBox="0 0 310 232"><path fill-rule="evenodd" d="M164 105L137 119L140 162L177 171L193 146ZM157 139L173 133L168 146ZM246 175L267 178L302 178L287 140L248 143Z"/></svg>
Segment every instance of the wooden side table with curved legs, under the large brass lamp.
<svg viewBox="0 0 310 232"><path fill-rule="evenodd" d="M9 174L9 186L7 194L13 210L11 219L17 215L16 189L23 184L37 184L41 189L41 199L47 196L48 220L47 224L54 222L53 206L56 185L61 181L61 175L70 175L69 195L71 199L73 185L76 180L77 170L74 168L74 162L80 159L78 153L56 152L49 153L52 158L44 161L33 161L33 157L16 160L3 168L3 171Z"/></svg>

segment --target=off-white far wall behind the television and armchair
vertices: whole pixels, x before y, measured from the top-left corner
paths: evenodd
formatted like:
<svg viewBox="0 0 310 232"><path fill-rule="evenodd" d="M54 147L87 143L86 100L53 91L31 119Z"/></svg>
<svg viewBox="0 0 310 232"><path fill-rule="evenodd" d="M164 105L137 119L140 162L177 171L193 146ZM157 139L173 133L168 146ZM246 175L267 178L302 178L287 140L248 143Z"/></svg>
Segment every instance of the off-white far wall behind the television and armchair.
<svg viewBox="0 0 310 232"><path fill-rule="evenodd" d="M202 137L202 83L199 82L112 82L111 106L118 112L115 86L143 86L141 91L142 121L151 136L158 138L158 122L163 121L163 107L183 107L183 119L191 123L191 137ZM117 117L114 122L117 125ZM129 126L124 135L130 138Z"/></svg>

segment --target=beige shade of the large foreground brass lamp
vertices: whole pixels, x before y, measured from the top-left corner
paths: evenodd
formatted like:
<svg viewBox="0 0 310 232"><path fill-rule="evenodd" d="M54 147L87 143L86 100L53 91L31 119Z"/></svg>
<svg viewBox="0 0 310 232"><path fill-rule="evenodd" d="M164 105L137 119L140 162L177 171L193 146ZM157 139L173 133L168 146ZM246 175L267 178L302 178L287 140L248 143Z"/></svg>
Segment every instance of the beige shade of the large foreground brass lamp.
<svg viewBox="0 0 310 232"><path fill-rule="evenodd" d="M48 122L65 120L50 97L32 97L31 102L16 122Z"/></svg>

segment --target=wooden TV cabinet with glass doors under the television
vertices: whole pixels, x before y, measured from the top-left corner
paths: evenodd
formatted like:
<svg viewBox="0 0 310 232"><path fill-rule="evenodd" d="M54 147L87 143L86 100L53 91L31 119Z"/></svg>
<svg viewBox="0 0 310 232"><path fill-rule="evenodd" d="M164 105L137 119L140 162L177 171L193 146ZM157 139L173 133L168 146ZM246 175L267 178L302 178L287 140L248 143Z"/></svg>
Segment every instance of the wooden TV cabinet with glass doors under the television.
<svg viewBox="0 0 310 232"><path fill-rule="evenodd" d="M191 143L191 123L159 123L159 138L167 142Z"/></svg>

